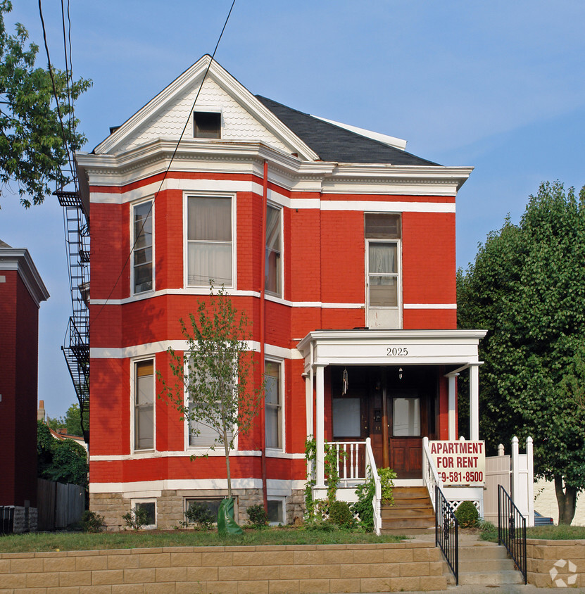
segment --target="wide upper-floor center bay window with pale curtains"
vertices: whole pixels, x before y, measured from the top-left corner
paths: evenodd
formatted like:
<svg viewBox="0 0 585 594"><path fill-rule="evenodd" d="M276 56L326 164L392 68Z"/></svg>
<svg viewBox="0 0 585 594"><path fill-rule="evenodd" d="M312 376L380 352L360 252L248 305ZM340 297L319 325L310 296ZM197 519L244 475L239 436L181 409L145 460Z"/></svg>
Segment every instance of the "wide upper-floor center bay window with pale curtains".
<svg viewBox="0 0 585 594"><path fill-rule="evenodd" d="M187 196L187 285L234 286L232 198Z"/></svg>

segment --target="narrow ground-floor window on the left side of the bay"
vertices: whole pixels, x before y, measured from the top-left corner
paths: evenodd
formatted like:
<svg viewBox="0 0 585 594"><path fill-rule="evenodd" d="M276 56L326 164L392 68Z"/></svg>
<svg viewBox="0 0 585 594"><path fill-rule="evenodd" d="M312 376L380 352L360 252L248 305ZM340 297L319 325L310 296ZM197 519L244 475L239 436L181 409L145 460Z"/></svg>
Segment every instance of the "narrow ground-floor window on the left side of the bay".
<svg viewBox="0 0 585 594"><path fill-rule="evenodd" d="M134 362L134 450L154 449L154 360Z"/></svg>

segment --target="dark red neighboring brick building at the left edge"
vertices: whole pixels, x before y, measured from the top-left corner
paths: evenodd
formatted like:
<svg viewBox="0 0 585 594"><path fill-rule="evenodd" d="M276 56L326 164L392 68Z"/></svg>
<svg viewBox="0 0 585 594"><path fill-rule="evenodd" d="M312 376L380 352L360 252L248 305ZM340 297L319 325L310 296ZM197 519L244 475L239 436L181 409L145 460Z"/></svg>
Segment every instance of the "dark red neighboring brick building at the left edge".
<svg viewBox="0 0 585 594"><path fill-rule="evenodd" d="M30 253L0 241L0 506L37 526L39 306L49 293Z"/></svg>

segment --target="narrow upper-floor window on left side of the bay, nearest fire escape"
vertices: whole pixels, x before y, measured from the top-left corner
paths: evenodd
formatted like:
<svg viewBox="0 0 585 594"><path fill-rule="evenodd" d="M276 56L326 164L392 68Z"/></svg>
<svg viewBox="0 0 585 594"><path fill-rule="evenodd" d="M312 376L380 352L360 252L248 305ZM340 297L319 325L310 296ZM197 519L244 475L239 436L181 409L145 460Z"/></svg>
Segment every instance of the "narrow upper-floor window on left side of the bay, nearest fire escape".
<svg viewBox="0 0 585 594"><path fill-rule="evenodd" d="M153 202L132 206L132 292L144 293L153 289L152 228Z"/></svg>

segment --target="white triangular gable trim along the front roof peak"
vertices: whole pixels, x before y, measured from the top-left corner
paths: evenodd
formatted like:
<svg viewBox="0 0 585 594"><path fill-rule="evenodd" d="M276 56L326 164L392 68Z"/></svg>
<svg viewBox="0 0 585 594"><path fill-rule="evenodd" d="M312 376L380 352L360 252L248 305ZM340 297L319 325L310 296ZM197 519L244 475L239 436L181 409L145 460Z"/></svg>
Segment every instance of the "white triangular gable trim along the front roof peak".
<svg viewBox="0 0 585 594"><path fill-rule="evenodd" d="M137 113L134 113L129 120L126 120L113 134L110 134L108 138L96 146L94 152L97 154L114 153L119 150L134 130L138 129L165 106L172 105L175 98L187 92L189 87L199 84L198 79L203 77L204 72L209 66L207 76L215 80L227 94L232 96L239 105L251 113L266 129L281 139L285 145L290 146L291 153L298 153L301 158L306 160L314 161L319 158L317 153L286 127L268 108L263 106L246 87L235 80L216 61L212 61L209 64L210 60L210 56L200 58L191 68L185 70L168 87L165 87L149 103L146 103L143 108L138 110Z"/></svg>

